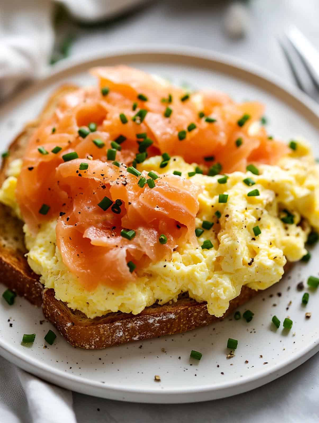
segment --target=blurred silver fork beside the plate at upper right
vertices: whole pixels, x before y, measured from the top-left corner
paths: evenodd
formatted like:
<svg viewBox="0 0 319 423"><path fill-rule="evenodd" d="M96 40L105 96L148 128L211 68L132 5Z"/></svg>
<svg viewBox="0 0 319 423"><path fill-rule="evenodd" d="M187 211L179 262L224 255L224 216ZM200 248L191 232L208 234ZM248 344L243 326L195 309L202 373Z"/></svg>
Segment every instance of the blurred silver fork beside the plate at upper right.
<svg viewBox="0 0 319 423"><path fill-rule="evenodd" d="M319 102L319 52L295 26L291 26L286 31L285 36L299 56L299 62L303 64L304 69L300 69L287 43L279 41L280 47L283 49L283 53L298 87L308 94L308 96ZM302 75L302 73L304 75ZM305 79L305 74L308 75L308 81Z"/></svg>

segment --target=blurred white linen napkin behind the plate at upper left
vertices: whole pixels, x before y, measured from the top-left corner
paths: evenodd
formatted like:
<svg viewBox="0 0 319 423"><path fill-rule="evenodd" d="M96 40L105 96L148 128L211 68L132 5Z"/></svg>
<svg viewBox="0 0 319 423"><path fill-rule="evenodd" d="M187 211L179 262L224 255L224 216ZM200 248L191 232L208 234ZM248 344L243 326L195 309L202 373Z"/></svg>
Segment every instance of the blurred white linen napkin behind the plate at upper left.
<svg viewBox="0 0 319 423"><path fill-rule="evenodd" d="M53 11L63 3L83 22L114 16L143 0L0 0L0 100L44 75L54 45Z"/></svg>

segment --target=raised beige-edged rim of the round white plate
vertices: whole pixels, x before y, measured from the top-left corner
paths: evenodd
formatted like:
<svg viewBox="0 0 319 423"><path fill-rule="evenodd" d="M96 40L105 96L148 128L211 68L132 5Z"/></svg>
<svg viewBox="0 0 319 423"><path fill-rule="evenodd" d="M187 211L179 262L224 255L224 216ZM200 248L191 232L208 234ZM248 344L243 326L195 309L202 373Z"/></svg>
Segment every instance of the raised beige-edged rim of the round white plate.
<svg viewBox="0 0 319 423"><path fill-rule="evenodd" d="M295 104L304 109L304 113L305 111L311 113L312 119L314 119L315 122L315 124L313 124L313 122L311 122L311 124L317 126L319 129L318 105L298 88L281 80L280 77L277 77L275 74L265 71L264 69L260 69L258 66L248 63L245 60L233 58L207 49L178 45L167 46L161 44L110 48L97 54L89 55L85 60L80 58L67 59L64 63L57 64L56 68L50 72L50 74L45 75L41 80L33 83L28 88L25 88L20 93L17 93L17 95L15 95L11 100L5 102L0 107L0 116L3 113L6 113L7 110L10 110L11 107L14 107L15 104L23 102L24 99L40 91L44 88L46 83L52 84L54 82L58 82L58 79L63 78L64 74L68 72L76 72L77 68L86 67L88 69L90 66L94 66L94 62L103 60L111 61L116 58L120 60L125 56L136 56L136 58L138 58L138 56L141 55L145 57L150 56L150 59L153 56L153 60L161 55L172 55L175 56L175 58L183 58L184 60L186 58L189 60L203 60L210 64L211 69L214 64L219 64L219 66L226 67L229 71L233 70L241 73L244 72L252 77L257 77L257 80L260 82L264 82L266 85L270 84L272 88L279 89L281 93L284 93L288 96L288 98L294 100ZM150 62L152 62L152 60L150 60ZM252 83L260 88L260 85L257 85L254 82ZM309 117L306 115L305 118L309 120ZM7 358L9 361L24 370L30 371L31 373L40 376L42 379L53 382L56 385L66 387L80 393L100 396L103 398L122 399L131 402L168 404L189 402L189 394L193 394L191 399L192 402L199 402L207 401L213 397L216 399L225 398L227 396L247 392L255 387L264 385L274 379L277 379L277 377L283 376L316 354L316 352L319 351L318 341L319 339L313 344L307 345L296 355L292 354L291 357L288 360L285 360L284 363L273 365L270 370L265 369L264 371L258 372L256 375L247 376L242 380L239 379L237 382L224 382L215 387L212 385L205 385L203 387L196 388L173 387L164 388L163 390L159 390L158 388L146 389L136 386L128 387L125 385L114 386L108 385L107 383L102 384L101 382L92 381L83 378L82 376L66 374L61 370L51 368L50 365L46 363L39 362L36 358L24 355L23 352L22 354L18 354L17 350L10 344L6 343L2 338L0 338L0 352L3 357ZM90 389L92 389L92 391L90 391ZM212 395L212 393L215 395ZM144 394L144 396L141 398L142 394Z"/></svg>

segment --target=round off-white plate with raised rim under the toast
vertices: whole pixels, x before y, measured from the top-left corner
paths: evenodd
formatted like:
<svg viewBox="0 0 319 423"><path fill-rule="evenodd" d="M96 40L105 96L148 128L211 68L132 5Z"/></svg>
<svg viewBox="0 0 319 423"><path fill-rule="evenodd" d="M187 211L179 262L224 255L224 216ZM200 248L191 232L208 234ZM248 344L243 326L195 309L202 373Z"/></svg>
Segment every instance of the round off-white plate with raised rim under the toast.
<svg viewBox="0 0 319 423"><path fill-rule="evenodd" d="M286 140L304 135L319 157L318 114L314 104L300 92L284 88L274 77L230 58L202 50L194 53L194 49L180 47L122 52L117 49L100 58L71 62L67 67L58 68L2 107L3 149L23 124L37 115L48 94L61 82L94 82L86 73L89 68L118 63L169 77L176 83L216 88L239 101L260 100L267 105L270 133ZM312 253L317 254L318 247ZM298 282L317 272L315 258L309 264L296 264L279 284L261 292L247 305L255 312L248 324L244 320L226 319L182 335L98 351L75 349L59 335L53 346L44 349L43 337L49 328L54 328L47 322L39 323L43 319L41 310L22 298L17 298L12 307L1 299L0 354L57 385L104 398L153 403L223 398L270 382L319 350L319 308L316 307L319 292L311 293L304 308L302 293L296 290ZM241 307L241 312L244 309ZM312 312L311 319L305 320L305 311ZM281 321L290 316L294 322L292 330L275 331L270 324L273 314ZM36 332L33 346L21 346L22 334L33 332ZM226 359L229 337L238 339L239 346L236 356ZM202 352L200 362L189 359L191 349ZM154 381L155 374L161 376L161 382Z"/></svg>

